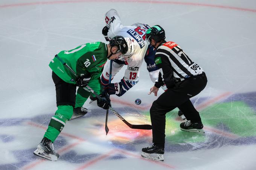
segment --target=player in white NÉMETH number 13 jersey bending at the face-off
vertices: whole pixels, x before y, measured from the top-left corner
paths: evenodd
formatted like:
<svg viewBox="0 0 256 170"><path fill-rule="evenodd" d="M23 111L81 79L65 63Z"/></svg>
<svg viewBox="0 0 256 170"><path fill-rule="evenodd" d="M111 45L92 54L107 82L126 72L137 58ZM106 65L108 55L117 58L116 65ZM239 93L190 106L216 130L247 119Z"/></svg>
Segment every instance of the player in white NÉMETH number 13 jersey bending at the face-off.
<svg viewBox="0 0 256 170"><path fill-rule="evenodd" d="M120 35L125 37L129 47L129 50L125 55L112 62L111 79L114 78L124 65L127 65L125 75L120 82L108 83L110 62L107 61L105 64L101 76L101 83L105 86L105 90L107 90L110 95L115 94L117 96L122 96L125 92L131 89L131 87L139 81L140 67L143 59L147 64L151 81L157 86L159 69L154 62L155 49L148 44L145 39L146 30L150 27L147 24L141 23L136 23L131 26L123 26L119 14L115 9L110 9L110 11L105 14L105 22L106 26L102 30L105 39L108 41L114 36ZM92 96L91 99L93 99Z"/></svg>

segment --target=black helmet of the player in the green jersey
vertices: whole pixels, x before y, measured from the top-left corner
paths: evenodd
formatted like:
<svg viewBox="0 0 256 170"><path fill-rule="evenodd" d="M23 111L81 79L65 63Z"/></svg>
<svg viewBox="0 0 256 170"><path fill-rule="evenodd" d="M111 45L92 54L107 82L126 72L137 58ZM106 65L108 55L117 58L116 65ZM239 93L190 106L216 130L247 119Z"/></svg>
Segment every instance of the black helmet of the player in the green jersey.
<svg viewBox="0 0 256 170"><path fill-rule="evenodd" d="M114 47L114 46L118 47L118 50L116 53L121 52L122 54L125 54L128 51L127 42L125 41L125 38L123 38L122 36L115 36L113 39L109 41L109 43L111 47Z"/></svg>

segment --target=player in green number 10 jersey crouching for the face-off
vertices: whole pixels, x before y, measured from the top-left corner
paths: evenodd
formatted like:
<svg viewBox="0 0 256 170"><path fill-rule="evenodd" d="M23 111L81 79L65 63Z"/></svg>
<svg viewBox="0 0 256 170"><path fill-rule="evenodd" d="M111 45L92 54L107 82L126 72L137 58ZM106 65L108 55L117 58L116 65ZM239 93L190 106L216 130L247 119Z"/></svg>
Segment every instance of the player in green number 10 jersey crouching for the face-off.
<svg viewBox="0 0 256 170"><path fill-rule="evenodd" d="M69 51L61 51L50 62L52 79L56 89L57 111L50 120L47 131L42 141L38 144L34 154L43 158L56 161L59 154L53 149L53 142L72 117L73 107L82 107L90 96L90 92L84 90L87 85L101 96L97 99L99 107L108 109L110 99L104 93L100 76L107 59L117 59L128 50L127 43L122 36L116 36L110 44L92 42L80 45ZM65 62L75 75L62 63ZM77 95L76 87L79 86Z"/></svg>

